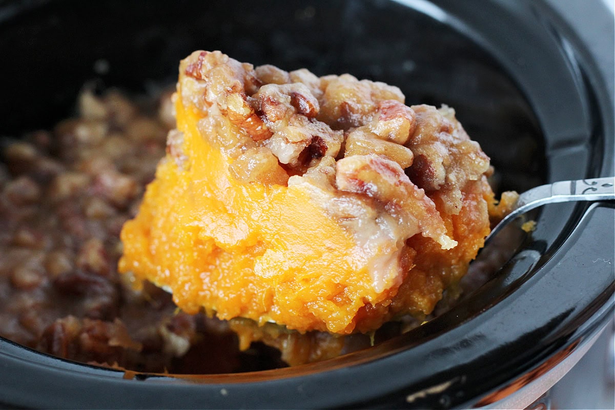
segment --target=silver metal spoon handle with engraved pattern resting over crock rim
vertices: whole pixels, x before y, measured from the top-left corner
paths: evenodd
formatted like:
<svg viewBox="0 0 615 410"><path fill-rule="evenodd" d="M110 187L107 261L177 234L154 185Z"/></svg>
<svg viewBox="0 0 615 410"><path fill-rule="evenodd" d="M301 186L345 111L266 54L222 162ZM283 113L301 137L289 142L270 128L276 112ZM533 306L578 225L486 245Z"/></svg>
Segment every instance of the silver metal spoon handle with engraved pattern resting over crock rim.
<svg viewBox="0 0 615 410"><path fill-rule="evenodd" d="M517 216L541 207L547 203L574 201L615 200L615 177L579 179L577 181L558 181L534 187L519 195L514 210L506 215L486 237L489 242L498 232Z"/></svg>

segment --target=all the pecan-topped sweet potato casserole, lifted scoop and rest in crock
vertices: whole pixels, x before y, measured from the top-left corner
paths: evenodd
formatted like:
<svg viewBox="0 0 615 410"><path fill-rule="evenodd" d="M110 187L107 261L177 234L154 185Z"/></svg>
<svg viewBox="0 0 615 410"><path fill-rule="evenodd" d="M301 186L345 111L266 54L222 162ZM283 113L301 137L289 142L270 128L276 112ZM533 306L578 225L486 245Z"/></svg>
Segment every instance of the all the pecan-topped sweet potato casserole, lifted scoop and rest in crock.
<svg viewBox="0 0 615 410"><path fill-rule="evenodd" d="M6 146L1 336L146 371L322 360L430 315L514 200L452 108L391 85L199 51L161 101L86 90Z"/></svg>

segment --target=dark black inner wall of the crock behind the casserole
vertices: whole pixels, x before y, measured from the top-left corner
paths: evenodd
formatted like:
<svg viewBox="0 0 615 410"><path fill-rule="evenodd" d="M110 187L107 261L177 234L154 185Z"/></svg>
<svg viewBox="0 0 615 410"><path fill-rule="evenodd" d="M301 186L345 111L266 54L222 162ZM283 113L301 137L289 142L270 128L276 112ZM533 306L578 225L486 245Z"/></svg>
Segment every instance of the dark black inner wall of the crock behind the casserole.
<svg viewBox="0 0 615 410"><path fill-rule="evenodd" d="M8 9L8 7L7 7ZM178 61L220 49L240 61L315 74L351 73L398 85L408 104L453 106L498 170L499 189L544 181L538 121L485 50L448 25L395 2L51 1L0 10L0 135L71 114L82 85L147 92L173 84ZM109 63L95 73L98 60Z"/></svg>

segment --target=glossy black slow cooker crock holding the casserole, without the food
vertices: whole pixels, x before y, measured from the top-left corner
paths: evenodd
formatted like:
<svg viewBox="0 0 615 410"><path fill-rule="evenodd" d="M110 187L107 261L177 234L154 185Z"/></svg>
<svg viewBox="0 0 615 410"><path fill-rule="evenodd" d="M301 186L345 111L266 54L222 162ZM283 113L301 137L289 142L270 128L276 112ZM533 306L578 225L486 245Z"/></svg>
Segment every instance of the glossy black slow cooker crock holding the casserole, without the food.
<svg viewBox="0 0 615 410"><path fill-rule="evenodd" d="M27 1L0 4L0 135L49 127L82 85L144 92L178 61L240 61L398 85L448 104L525 191L614 173L613 15L601 1ZM614 204L548 205L480 288L359 352L269 371L141 374L0 338L0 407L522 408L614 311ZM488 253L488 248L482 253Z"/></svg>

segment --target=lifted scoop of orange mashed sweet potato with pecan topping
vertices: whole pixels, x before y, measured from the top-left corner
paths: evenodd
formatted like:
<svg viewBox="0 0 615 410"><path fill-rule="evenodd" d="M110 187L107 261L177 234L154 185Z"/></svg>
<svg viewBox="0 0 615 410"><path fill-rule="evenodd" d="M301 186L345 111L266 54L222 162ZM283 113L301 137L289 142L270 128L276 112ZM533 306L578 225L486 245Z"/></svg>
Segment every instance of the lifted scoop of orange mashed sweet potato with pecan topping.
<svg viewBox="0 0 615 410"><path fill-rule="evenodd" d="M119 269L185 312L367 333L431 313L490 232L488 157L397 87L198 51L175 111Z"/></svg>

